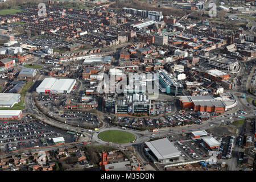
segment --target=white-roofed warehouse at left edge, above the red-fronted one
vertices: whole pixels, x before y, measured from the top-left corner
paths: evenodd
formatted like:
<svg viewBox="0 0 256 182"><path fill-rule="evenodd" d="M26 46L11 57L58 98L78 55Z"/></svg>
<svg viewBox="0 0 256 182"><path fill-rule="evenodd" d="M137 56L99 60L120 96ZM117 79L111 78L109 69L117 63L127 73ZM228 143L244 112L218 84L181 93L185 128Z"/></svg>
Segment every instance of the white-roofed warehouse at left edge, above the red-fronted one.
<svg viewBox="0 0 256 182"><path fill-rule="evenodd" d="M15 93L0 93L0 107L13 107L20 101L20 94Z"/></svg>

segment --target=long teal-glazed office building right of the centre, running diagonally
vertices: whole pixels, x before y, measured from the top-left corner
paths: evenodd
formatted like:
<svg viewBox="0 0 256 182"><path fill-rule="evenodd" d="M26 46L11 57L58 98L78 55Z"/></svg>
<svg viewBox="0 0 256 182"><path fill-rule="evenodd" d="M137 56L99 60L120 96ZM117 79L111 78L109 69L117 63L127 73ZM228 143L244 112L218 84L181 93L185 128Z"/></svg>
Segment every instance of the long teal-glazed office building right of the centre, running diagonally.
<svg viewBox="0 0 256 182"><path fill-rule="evenodd" d="M160 69L157 73L159 73L158 86L161 92L173 94L174 96L182 94L183 85L180 84L173 75L168 74L164 69Z"/></svg>

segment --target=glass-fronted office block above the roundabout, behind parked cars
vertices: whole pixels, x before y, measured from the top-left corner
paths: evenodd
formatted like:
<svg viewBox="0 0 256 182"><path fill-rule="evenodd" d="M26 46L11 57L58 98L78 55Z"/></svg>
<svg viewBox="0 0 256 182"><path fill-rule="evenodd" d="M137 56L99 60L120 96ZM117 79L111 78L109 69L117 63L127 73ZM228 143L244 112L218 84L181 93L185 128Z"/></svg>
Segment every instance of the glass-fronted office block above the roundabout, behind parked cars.
<svg viewBox="0 0 256 182"><path fill-rule="evenodd" d="M143 94L127 95L115 102L115 114L150 114L151 101Z"/></svg>

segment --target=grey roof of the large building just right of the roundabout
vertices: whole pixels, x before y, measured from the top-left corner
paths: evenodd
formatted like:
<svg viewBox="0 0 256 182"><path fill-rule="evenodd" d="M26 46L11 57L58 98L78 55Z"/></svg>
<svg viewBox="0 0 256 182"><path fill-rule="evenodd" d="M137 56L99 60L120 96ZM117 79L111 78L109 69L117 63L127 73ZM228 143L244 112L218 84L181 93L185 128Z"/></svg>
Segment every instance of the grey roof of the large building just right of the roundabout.
<svg viewBox="0 0 256 182"><path fill-rule="evenodd" d="M167 138L145 142L158 160L174 158L181 153Z"/></svg>

